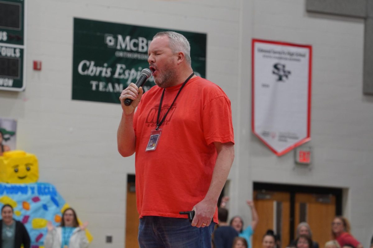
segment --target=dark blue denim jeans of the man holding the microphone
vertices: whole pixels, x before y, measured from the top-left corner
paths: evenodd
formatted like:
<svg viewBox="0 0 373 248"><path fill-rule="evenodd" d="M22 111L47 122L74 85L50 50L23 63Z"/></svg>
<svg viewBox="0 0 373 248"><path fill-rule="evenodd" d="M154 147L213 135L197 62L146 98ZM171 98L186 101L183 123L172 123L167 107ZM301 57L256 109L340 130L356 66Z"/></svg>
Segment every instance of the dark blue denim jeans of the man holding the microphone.
<svg viewBox="0 0 373 248"><path fill-rule="evenodd" d="M144 216L138 241L140 248L211 248L214 226L197 228L188 219Z"/></svg>

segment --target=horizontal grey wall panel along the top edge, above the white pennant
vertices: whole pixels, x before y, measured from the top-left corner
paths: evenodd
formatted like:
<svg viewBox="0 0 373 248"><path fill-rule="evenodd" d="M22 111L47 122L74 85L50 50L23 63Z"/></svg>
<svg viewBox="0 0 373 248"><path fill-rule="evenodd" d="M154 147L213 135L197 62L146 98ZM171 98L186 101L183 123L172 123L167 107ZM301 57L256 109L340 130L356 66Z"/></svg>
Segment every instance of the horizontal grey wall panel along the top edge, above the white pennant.
<svg viewBox="0 0 373 248"><path fill-rule="evenodd" d="M308 12L366 17L367 0L307 0L306 9Z"/></svg>

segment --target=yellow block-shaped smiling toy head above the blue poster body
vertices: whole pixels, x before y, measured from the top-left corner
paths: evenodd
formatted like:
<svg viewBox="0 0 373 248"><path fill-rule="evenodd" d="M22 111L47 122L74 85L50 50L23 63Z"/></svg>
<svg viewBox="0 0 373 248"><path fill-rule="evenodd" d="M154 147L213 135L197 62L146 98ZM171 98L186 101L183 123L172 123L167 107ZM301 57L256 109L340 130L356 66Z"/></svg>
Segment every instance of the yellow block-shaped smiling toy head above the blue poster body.
<svg viewBox="0 0 373 248"><path fill-rule="evenodd" d="M34 154L15 150L0 157L0 182L35 183L38 178L38 159Z"/></svg>

